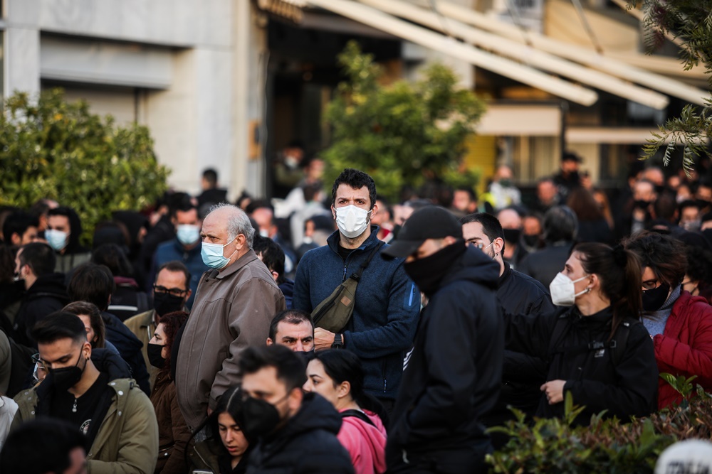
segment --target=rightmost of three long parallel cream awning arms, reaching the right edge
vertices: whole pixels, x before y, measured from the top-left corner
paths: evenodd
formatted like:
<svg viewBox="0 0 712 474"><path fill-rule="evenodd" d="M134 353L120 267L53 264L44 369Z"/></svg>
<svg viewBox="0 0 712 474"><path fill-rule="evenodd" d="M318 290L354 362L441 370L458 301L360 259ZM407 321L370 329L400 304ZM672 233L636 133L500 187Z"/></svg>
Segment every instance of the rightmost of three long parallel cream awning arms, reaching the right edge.
<svg viewBox="0 0 712 474"><path fill-rule="evenodd" d="M530 41L534 48L538 50L558 55L562 58L575 61L576 63L585 64L591 68L607 72L610 75L621 77L624 80L637 82L640 85L664 92L673 97L679 97L692 104L705 105L706 99L710 97L709 92L706 90L691 87L684 84L684 82L673 80L663 75L635 68L623 61L600 55L594 50L556 41L533 31L529 31L524 36L522 31L515 26L508 25L503 21L499 21L497 18L483 15L478 11L453 4L446 0L438 1L438 9L441 14L453 20L468 23L485 31L497 33L518 43Z"/></svg>

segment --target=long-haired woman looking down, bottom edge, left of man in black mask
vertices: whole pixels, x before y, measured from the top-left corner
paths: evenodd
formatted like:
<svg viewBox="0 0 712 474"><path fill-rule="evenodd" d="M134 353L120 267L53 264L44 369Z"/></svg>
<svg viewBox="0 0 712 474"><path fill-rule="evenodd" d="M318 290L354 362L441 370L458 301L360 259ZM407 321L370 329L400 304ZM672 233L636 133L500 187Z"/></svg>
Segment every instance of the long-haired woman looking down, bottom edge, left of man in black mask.
<svg viewBox="0 0 712 474"><path fill-rule="evenodd" d="M239 386L227 389L220 397L215 411L203 426L207 432L206 440L196 443L190 452L193 473L243 474L247 472L247 458L252 445L240 428L242 399ZM198 431L200 430L196 430ZM308 453L305 453L305 456L308 456Z"/></svg>

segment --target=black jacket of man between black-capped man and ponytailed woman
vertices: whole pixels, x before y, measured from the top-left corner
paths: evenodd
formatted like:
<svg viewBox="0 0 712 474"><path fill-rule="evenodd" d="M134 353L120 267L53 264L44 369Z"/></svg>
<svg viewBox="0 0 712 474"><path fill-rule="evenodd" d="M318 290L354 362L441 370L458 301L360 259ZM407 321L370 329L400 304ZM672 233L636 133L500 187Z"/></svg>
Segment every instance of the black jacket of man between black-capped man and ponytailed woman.
<svg viewBox="0 0 712 474"><path fill-rule="evenodd" d="M548 289L532 277L512 270L505 262L497 299L506 313L548 314L555 311ZM539 387L545 382L546 362L522 352L504 351L502 386L496 406L483 418L486 426L513 419L508 405L533 415L539 406Z"/></svg>

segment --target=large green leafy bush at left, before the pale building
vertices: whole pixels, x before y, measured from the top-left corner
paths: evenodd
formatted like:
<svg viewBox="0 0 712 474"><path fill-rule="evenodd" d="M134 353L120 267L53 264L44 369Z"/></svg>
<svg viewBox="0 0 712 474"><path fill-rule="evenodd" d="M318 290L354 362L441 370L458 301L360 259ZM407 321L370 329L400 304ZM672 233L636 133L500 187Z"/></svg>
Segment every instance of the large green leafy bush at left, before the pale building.
<svg viewBox="0 0 712 474"><path fill-rule="evenodd" d="M114 210L139 210L167 189L145 126L115 126L62 90L33 100L16 93L0 117L0 204L28 208L41 198L74 208L83 243Z"/></svg>

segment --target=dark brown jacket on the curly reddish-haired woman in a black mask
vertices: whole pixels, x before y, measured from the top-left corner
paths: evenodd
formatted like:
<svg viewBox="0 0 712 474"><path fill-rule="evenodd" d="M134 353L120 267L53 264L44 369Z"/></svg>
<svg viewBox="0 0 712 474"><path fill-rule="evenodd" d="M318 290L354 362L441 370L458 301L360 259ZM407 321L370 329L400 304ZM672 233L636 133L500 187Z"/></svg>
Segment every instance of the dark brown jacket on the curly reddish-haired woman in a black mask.
<svg viewBox="0 0 712 474"><path fill-rule="evenodd" d="M168 372L159 372L151 392L158 421L158 463L156 473L187 473L185 450L191 437L178 408L176 385Z"/></svg>

